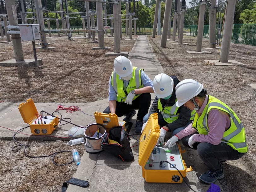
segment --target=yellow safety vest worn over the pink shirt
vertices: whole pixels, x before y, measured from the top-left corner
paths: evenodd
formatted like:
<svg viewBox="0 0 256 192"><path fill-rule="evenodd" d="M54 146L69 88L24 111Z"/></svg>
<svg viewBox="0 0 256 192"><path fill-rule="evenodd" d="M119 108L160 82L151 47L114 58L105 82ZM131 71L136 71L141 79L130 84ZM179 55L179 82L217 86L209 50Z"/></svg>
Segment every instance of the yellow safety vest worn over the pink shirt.
<svg viewBox="0 0 256 192"><path fill-rule="evenodd" d="M212 109L222 110L230 115L230 128L224 132L222 142L228 144L240 153L247 153L248 145L246 142L244 127L240 119L229 106L211 95L208 95L208 103L205 106L202 115L199 117L197 113L195 114L192 127L197 129L199 134L207 135L209 132L207 118L208 113Z"/></svg>

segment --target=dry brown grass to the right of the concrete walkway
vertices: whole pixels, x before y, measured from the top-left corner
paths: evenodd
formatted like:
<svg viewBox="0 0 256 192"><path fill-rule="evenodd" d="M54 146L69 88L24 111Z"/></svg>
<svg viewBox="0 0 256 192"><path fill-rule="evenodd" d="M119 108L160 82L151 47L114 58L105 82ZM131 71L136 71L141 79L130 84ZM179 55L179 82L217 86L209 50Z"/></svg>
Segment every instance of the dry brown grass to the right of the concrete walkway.
<svg viewBox="0 0 256 192"><path fill-rule="evenodd" d="M232 43L229 59L246 66L213 66L204 60L218 59L218 49L209 50L212 54L185 52L195 50L195 37L184 37L183 42L189 45L179 46L167 42L167 48L160 48L160 37L149 37L149 40L166 74L176 75L179 80L191 78L201 82L210 95L229 105L239 116L246 129L249 150L241 159L224 163L226 176L220 183L225 192L256 191L256 95L247 86L256 82L256 48ZM204 39L203 47L208 45L208 40Z"/></svg>

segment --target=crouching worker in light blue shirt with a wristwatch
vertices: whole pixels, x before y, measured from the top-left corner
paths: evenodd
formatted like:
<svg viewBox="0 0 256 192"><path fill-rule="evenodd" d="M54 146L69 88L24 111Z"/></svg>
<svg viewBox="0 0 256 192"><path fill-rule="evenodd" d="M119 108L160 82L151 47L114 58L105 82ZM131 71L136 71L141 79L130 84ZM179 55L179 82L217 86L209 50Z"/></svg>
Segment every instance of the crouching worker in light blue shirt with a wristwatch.
<svg viewBox="0 0 256 192"><path fill-rule="evenodd" d="M130 122L138 109L135 132L140 133L143 117L148 113L151 102L150 93L154 93L153 82L143 69L133 67L131 61L124 56L114 60L114 71L109 79L109 106L103 113L115 113L124 116L123 121Z"/></svg>

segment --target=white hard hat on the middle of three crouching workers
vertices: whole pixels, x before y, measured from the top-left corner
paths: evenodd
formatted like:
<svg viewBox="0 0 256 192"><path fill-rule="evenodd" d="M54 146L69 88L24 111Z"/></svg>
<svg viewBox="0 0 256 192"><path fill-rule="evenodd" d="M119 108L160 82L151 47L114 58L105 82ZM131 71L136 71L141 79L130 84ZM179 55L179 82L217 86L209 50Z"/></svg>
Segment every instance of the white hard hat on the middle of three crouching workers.
<svg viewBox="0 0 256 192"><path fill-rule="evenodd" d="M173 91L173 79L172 77L161 73L155 76L153 81L155 95L161 99L172 94Z"/></svg>

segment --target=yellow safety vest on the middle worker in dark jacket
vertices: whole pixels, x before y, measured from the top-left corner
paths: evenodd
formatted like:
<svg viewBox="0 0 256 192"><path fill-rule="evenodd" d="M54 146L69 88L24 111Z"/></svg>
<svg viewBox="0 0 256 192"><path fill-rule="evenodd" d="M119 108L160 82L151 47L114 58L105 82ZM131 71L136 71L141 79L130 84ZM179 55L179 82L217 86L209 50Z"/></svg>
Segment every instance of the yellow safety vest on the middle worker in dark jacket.
<svg viewBox="0 0 256 192"><path fill-rule="evenodd" d="M159 109L162 114L163 114L163 113L166 113L166 114L170 115L170 117L165 118L165 115L163 114L163 118L164 118L164 120L165 120L167 123L172 123L173 121L175 121L175 120L178 119L179 113L177 113L177 112L178 112L178 110L179 110L179 107L176 106L176 102L177 102L177 99L175 99L174 105L165 107L165 108L163 109L162 104L161 104L161 102L160 102L160 99L158 99L157 109ZM195 110L191 111L190 120L193 120L193 119L194 119L194 116L195 116Z"/></svg>

